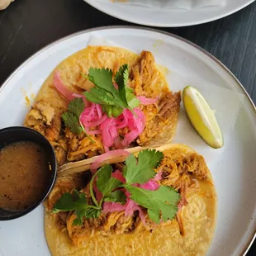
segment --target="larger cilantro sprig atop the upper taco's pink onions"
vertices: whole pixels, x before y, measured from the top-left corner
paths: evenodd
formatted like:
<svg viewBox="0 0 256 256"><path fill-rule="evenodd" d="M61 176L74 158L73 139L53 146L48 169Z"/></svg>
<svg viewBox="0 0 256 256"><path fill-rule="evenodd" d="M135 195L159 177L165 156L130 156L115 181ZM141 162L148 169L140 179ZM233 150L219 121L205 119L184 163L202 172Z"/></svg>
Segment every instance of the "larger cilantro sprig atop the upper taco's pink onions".
<svg viewBox="0 0 256 256"><path fill-rule="evenodd" d="M132 111L139 106L140 100L135 97L133 90L127 87L129 77L127 64L122 65L115 74L117 89L113 86L111 69L90 68L88 76L84 73L82 75L95 85L95 88L91 88L89 92L84 92L84 96L89 102L102 105L102 110L107 116L117 117L125 108Z"/></svg>

